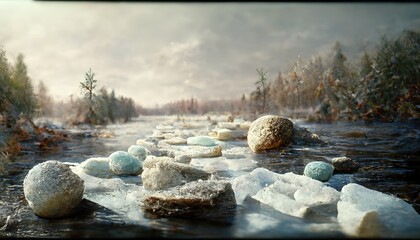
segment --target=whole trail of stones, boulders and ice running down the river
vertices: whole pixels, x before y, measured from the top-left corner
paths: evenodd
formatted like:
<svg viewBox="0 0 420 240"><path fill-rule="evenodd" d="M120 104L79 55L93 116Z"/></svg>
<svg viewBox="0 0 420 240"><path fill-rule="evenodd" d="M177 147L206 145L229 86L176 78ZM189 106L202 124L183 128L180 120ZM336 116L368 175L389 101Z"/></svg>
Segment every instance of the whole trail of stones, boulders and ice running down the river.
<svg viewBox="0 0 420 240"><path fill-rule="evenodd" d="M73 166L54 160L34 166L24 179L24 194L44 218L68 215L83 198L131 219L141 219L142 212L197 218L234 214L253 199L296 218L333 219L348 236L419 236L420 217L405 201L356 183L341 191L325 183L335 172L356 171L359 166L350 158L310 162L303 175L276 173L252 159L293 144L297 135L320 141L304 131L275 115L208 128L193 122L159 124L127 151ZM229 145L245 139L248 147Z"/></svg>

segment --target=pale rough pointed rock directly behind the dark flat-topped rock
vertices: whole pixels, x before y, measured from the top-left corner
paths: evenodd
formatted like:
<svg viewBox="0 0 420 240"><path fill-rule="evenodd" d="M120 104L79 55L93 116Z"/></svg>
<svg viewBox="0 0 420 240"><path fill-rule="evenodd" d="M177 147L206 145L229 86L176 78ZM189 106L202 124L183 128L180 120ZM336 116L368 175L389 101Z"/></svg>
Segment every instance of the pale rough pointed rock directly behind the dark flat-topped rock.
<svg viewBox="0 0 420 240"><path fill-rule="evenodd" d="M141 179L147 190L161 190L185 184L198 179L208 179L210 174L191 167L188 164L177 163L169 157L148 156L143 162Z"/></svg>

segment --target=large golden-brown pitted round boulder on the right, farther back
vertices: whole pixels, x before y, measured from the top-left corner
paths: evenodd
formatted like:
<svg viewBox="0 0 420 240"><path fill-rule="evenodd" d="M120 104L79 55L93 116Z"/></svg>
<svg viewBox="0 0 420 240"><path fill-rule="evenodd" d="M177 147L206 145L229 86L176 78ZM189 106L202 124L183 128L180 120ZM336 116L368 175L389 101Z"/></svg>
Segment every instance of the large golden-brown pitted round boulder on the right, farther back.
<svg viewBox="0 0 420 240"><path fill-rule="evenodd" d="M287 118L266 115L251 123L248 146L255 153L288 145L293 137L293 123Z"/></svg>

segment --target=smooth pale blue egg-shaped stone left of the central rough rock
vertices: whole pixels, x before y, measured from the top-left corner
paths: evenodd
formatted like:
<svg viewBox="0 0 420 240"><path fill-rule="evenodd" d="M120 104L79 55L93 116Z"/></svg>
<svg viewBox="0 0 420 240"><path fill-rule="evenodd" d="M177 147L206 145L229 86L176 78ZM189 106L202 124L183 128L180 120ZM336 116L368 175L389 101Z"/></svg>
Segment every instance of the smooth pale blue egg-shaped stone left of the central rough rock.
<svg viewBox="0 0 420 240"><path fill-rule="evenodd" d="M109 155L109 168L117 175L139 175L142 162L125 151L116 151Z"/></svg>

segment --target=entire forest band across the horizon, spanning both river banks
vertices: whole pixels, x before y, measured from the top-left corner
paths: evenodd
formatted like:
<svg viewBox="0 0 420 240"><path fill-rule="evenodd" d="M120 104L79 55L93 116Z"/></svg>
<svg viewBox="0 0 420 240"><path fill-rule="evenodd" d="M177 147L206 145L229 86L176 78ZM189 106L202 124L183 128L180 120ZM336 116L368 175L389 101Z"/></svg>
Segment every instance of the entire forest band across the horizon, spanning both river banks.
<svg viewBox="0 0 420 240"><path fill-rule="evenodd" d="M347 60L340 42L327 59L298 57L291 69L269 80L256 69L255 90L233 100L180 99L148 109L114 90L97 88L91 69L80 82L80 95L54 101L41 81L32 85L24 56L11 65L0 48L0 120L3 129L19 121L56 117L70 124L128 122L142 115L185 115L227 112L248 119L261 114L333 122L339 120L406 121L420 110L420 33L403 31L383 36L375 53L361 53L359 62ZM258 64L258 63L256 63Z"/></svg>

